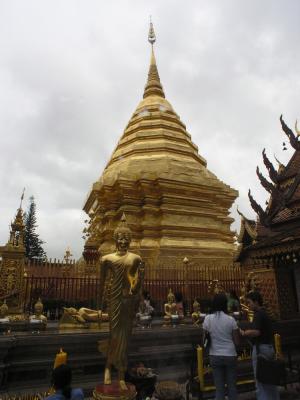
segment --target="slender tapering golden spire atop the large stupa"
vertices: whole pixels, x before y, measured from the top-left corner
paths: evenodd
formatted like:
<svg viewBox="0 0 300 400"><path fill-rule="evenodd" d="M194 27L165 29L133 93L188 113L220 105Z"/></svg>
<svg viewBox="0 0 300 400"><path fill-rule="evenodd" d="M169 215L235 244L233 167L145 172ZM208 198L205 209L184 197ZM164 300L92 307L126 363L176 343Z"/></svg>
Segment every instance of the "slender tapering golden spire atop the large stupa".
<svg viewBox="0 0 300 400"><path fill-rule="evenodd" d="M148 72L148 80L144 90L144 99L149 96L160 96L165 97L162 85L160 83L159 74L157 70L153 44L156 42L156 36L153 28L153 24L150 18L150 27L148 34L148 42L151 44L151 61Z"/></svg>

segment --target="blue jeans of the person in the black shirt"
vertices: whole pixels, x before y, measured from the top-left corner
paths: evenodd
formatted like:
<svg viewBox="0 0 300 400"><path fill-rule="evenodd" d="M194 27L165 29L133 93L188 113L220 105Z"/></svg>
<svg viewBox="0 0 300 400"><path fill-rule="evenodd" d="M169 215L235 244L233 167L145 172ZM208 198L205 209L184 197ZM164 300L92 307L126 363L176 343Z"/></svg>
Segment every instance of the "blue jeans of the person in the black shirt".
<svg viewBox="0 0 300 400"><path fill-rule="evenodd" d="M274 357L274 349L271 344L259 345L259 352L263 354L266 358L271 359ZM256 380L256 363L257 363L256 346L253 346L252 365L254 370L257 400L279 400L279 392L277 386L267 385L265 383L260 383Z"/></svg>

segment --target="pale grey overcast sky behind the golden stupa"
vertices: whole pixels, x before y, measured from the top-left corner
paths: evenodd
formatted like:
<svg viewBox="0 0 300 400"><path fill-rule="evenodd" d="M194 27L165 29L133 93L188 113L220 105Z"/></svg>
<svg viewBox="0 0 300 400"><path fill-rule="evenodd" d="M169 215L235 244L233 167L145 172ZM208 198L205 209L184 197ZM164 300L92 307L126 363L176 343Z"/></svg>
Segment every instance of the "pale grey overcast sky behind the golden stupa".
<svg viewBox="0 0 300 400"><path fill-rule="evenodd" d="M254 218L248 188L264 204L261 151L285 163L279 116L300 119L298 0L0 0L1 244L25 186L48 256L80 256L84 200L142 97L149 15L167 99L239 191L233 229L237 205Z"/></svg>

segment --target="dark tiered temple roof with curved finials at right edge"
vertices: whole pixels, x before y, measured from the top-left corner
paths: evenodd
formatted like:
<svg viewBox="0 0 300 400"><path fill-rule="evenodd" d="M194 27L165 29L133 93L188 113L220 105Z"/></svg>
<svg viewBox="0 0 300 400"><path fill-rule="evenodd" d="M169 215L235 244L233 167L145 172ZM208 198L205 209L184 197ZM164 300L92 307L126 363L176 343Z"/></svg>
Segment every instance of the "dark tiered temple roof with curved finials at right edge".
<svg viewBox="0 0 300 400"><path fill-rule="evenodd" d="M252 242L246 240L240 234L240 252L238 259L241 260L246 253L255 249L264 249L264 256L286 253L287 245L300 248L300 141L297 135L285 124L282 116L280 122L284 133L287 135L294 153L286 166L278 162L278 170L267 158L263 150L263 161L269 172L270 180L266 179L257 168L257 175L262 186L270 193L269 201L265 208L261 207L251 195L249 200L252 208L257 213L255 221L256 238ZM286 145L284 143L284 145ZM254 221L252 221L253 227ZM244 231L245 222L241 222L241 232ZM281 250L279 250L281 249Z"/></svg>

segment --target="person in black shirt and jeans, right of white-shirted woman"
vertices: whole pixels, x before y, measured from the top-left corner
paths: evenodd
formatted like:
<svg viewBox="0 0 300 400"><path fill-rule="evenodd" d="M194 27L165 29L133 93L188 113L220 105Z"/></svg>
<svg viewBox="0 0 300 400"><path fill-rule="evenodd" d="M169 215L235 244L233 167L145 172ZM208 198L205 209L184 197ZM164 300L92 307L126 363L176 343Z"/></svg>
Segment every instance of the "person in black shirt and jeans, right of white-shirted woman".
<svg viewBox="0 0 300 400"><path fill-rule="evenodd" d="M257 400L279 400L278 388L275 385L262 383L257 374L257 357L267 360L274 359L272 321L263 308L263 299L259 292L251 291L246 295L249 308L254 311L252 329L240 330L241 336L249 337L253 342L252 364L256 383ZM271 371L265 371L272 374Z"/></svg>

